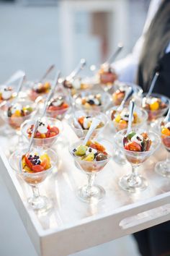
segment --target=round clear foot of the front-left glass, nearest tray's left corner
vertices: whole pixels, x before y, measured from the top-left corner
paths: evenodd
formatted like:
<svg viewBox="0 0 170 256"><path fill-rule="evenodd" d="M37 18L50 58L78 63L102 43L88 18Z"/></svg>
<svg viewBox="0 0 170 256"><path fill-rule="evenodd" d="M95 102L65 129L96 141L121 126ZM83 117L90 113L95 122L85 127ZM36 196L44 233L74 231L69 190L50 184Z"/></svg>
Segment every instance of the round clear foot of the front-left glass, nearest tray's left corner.
<svg viewBox="0 0 170 256"><path fill-rule="evenodd" d="M38 212L45 213L52 208L52 201L48 197L30 197L27 202L30 204L33 210L38 210Z"/></svg>

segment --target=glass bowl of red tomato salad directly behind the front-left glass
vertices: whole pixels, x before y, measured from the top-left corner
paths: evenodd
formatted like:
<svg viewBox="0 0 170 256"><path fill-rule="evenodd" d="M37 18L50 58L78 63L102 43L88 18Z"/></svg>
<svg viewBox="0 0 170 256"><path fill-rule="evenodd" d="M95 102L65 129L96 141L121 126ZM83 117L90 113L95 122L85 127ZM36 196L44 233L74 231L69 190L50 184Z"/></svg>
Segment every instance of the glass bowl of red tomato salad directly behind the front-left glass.
<svg viewBox="0 0 170 256"><path fill-rule="evenodd" d="M30 140L34 126L35 120L27 120L22 124L22 134L27 138L27 140ZM33 145L46 147L52 146L56 140L58 140L62 130L63 125L61 121L48 116L43 117L39 121L37 132L35 133L35 137L33 139Z"/></svg>

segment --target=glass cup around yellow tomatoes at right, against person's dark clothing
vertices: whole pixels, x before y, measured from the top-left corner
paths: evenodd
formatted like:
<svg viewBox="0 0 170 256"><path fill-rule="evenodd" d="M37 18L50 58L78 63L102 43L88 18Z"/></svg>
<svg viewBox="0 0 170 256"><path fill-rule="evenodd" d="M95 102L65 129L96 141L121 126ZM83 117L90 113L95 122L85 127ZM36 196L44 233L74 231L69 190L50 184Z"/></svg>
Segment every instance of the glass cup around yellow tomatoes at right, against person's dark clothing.
<svg viewBox="0 0 170 256"><path fill-rule="evenodd" d="M164 108L154 109L156 106L153 106L151 108L148 107L148 104L145 103L147 93L143 93L143 103L142 107L148 112L148 125L151 125L151 127L154 127L157 124L157 120L164 116L166 114L166 111L169 109L169 98L167 98L164 95L158 94L158 93L151 93L150 98L158 98L158 100L161 100L162 103L164 103Z"/></svg>

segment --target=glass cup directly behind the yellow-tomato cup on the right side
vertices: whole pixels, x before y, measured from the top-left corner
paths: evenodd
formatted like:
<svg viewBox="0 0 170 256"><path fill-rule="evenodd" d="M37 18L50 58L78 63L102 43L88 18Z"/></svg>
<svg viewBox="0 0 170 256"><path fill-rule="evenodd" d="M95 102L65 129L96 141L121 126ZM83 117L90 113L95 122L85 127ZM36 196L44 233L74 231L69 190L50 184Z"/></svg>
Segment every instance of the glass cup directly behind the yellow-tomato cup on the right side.
<svg viewBox="0 0 170 256"><path fill-rule="evenodd" d="M125 97L126 90L133 88L133 95L129 98L128 102L133 98L135 104L140 106L143 90L139 85L135 85L129 82L115 81L112 88L109 89L108 93L112 95L112 103L114 106L120 106L123 98Z"/></svg>

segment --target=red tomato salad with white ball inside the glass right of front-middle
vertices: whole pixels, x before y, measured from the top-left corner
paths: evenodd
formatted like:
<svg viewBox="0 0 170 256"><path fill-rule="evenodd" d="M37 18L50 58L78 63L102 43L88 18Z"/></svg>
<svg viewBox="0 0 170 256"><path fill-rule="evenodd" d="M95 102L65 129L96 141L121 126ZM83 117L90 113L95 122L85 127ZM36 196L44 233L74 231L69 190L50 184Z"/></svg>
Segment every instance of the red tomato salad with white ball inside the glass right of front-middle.
<svg viewBox="0 0 170 256"><path fill-rule="evenodd" d="M151 147L151 140L146 132L130 132L123 138L125 150L143 152L148 151Z"/></svg>

